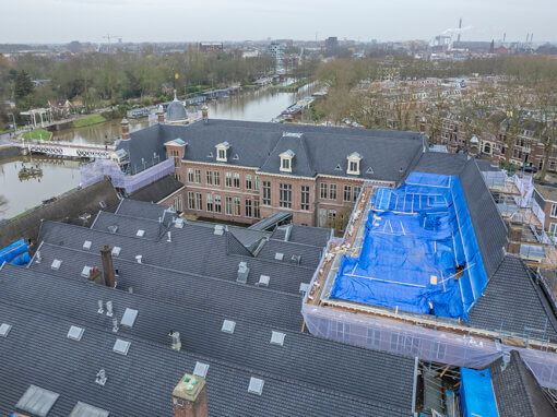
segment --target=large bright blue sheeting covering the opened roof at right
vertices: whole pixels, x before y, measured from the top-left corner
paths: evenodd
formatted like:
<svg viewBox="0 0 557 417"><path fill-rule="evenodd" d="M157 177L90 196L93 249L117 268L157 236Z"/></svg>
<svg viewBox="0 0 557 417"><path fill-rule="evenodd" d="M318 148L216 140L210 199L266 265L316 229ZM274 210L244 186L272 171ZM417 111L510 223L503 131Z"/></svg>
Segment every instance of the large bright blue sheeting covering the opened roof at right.
<svg viewBox="0 0 557 417"><path fill-rule="evenodd" d="M331 298L467 321L487 279L459 177L411 172L371 196L359 258L343 258Z"/></svg>

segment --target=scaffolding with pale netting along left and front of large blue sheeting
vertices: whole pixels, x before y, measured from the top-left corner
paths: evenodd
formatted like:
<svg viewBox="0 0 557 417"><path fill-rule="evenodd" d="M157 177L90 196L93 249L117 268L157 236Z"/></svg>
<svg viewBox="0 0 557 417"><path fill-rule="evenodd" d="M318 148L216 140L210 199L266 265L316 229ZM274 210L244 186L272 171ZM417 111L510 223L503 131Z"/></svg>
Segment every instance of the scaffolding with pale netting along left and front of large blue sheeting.
<svg viewBox="0 0 557 417"><path fill-rule="evenodd" d="M365 348L474 369L487 367L514 349L542 386L557 389L557 345L546 330L525 327L523 334L515 334L503 329L502 318L500 329L473 329L445 318L329 299L329 277L336 274L344 254L359 251L365 227L358 224L366 222L367 202L374 192L374 184L363 187L344 237L328 242L301 305L309 332Z"/></svg>

